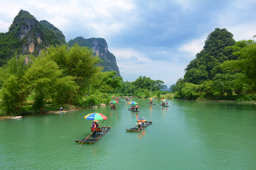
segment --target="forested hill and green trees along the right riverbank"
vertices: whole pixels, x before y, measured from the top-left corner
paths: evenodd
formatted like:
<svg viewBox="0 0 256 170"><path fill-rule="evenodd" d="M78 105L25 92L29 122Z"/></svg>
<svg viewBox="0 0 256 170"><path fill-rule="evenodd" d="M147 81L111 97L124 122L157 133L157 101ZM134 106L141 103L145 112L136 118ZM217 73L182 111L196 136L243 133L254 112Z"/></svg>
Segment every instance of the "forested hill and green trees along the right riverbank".
<svg viewBox="0 0 256 170"><path fill-rule="evenodd" d="M256 42L235 42L233 34L216 28L185 68L172 91L190 100L256 101Z"/></svg>

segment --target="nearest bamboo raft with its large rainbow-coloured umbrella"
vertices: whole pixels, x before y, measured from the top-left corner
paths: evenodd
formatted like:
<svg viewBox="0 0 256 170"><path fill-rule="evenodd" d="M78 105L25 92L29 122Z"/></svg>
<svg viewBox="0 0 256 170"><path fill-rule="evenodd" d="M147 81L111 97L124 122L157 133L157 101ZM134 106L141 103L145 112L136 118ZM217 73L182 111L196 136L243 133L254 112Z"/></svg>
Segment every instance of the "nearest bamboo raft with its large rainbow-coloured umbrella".
<svg viewBox="0 0 256 170"><path fill-rule="evenodd" d="M101 114L101 113L97 113L97 112L95 112L95 113L90 113L90 114L88 114L88 115L86 115L85 117L84 117L84 119L87 119L87 120L96 120L96 122L99 122L99 120L103 120L102 121L102 123L106 120L106 119L108 119L105 115L103 115L103 114ZM101 124L102 124L101 123ZM100 124L100 125L101 125ZM99 125L99 126L100 126ZM87 137L85 137L85 138L83 138L83 139L81 139L81 140L76 140L75 142L78 142L78 143L89 143L89 144L94 144L95 142L97 142L102 136L104 136L106 133L108 133L109 131L110 131L110 128L111 127L105 127L105 126L103 126L103 127L101 127L101 131L100 132L97 132L97 128L95 129L96 130L96 134L95 134L95 136L93 136L92 135L92 133L93 132L91 132L91 134L89 135L89 136L87 136ZM94 131L95 131L94 130ZM81 145L81 144L80 144Z"/></svg>

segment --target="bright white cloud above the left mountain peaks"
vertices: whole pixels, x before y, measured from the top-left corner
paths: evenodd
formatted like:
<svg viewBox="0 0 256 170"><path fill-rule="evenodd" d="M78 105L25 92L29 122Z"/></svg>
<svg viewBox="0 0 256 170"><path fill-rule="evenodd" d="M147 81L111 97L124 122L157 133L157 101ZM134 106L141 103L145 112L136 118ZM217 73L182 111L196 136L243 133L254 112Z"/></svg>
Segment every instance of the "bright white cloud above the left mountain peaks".
<svg viewBox="0 0 256 170"><path fill-rule="evenodd" d="M12 10L9 10L10 8ZM139 21L139 17L134 12L135 8L132 1L125 0L6 1L1 3L0 14L11 17L9 22L0 18L0 23L3 23L0 31L8 31L13 18L20 9L23 9L34 15L37 20L45 19L51 22L63 32L66 30L82 32L85 28L95 37L108 38Z"/></svg>

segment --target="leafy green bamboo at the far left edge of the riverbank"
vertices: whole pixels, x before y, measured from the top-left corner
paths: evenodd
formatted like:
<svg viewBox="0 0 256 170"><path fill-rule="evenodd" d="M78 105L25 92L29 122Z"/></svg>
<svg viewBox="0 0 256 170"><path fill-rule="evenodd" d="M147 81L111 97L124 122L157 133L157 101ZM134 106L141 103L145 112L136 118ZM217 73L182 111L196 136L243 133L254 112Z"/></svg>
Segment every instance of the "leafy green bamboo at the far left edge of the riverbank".
<svg viewBox="0 0 256 170"><path fill-rule="evenodd" d="M1 110L7 114L17 115L23 102L31 93L31 85L24 79L28 67L26 56L12 57L8 64L0 68Z"/></svg>

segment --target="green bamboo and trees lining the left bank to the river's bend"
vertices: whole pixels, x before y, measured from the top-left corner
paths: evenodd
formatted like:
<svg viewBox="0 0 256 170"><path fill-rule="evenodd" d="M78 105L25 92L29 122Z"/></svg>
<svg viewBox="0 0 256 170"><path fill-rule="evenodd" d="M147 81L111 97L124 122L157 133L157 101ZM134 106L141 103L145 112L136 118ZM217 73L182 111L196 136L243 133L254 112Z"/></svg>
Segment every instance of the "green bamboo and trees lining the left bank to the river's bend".
<svg viewBox="0 0 256 170"><path fill-rule="evenodd" d="M140 76L123 82L115 71L102 72L91 49L75 44L50 47L38 57L15 55L0 68L0 116L87 108L118 96L149 97L161 80Z"/></svg>

